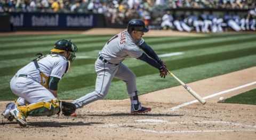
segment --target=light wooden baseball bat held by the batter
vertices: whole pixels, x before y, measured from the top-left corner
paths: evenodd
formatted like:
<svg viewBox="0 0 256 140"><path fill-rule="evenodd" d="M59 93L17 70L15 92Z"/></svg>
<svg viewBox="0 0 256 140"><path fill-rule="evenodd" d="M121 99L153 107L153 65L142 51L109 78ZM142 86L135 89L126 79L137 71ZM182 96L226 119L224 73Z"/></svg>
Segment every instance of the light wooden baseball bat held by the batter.
<svg viewBox="0 0 256 140"><path fill-rule="evenodd" d="M181 81L178 77L176 77L171 71L168 70L168 73L174 77L177 81L179 81L179 83L191 94L193 95L200 103L205 104L206 101L200 96L198 95L192 88L190 88L188 85L186 85L185 83L183 83L183 81Z"/></svg>

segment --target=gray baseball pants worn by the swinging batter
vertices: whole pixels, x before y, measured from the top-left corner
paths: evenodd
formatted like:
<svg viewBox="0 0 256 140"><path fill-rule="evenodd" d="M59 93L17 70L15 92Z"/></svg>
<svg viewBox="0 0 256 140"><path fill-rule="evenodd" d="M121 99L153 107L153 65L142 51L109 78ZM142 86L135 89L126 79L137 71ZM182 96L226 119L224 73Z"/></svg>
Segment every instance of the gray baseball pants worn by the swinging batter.
<svg viewBox="0 0 256 140"><path fill-rule="evenodd" d="M95 62L95 71L97 73L95 90L73 101L77 108L82 108L86 104L104 98L108 93L114 77L126 83L127 92L130 97L134 96L134 92L137 91L136 76L123 63L115 65L104 63L100 59L97 59Z"/></svg>

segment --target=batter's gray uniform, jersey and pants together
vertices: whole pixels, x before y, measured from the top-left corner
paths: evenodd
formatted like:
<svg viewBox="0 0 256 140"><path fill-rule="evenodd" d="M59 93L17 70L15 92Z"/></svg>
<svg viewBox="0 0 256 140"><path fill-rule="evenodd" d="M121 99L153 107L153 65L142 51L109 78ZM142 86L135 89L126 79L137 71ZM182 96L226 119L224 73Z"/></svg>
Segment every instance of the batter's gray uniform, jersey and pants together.
<svg viewBox="0 0 256 140"><path fill-rule="evenodd" d="M109 39L99 52L99 55L109 63L99 58L97 59L95 62L95 71L97 73L95 90L73 101L77 108L82 108L86 104L105 97L114 77L125 81L129 96L134 96L134 92L137 92L136 76L122 61L126 57L140 57L143 52L140 50L139 45L143 42L142 38L139 40L132 39L126 30Z"/></svg>

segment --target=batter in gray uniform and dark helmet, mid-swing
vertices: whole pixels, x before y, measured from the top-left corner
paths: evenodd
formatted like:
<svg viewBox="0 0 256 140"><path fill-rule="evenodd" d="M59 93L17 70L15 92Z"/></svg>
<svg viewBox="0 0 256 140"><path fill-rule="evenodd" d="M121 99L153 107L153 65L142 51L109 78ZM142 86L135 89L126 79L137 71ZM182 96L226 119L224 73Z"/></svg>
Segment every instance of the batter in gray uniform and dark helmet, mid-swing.
<svg viewBox="0 0 256 140"><path fill-rule="evenodd" d="M95 62L97 73L95 90L75 100L73 103L77 108L82 108L86 104L104 98L108 93L111 80L115 77L126 83L131 100L131 113L151 111L150 108L143 107L139 102L136 76L122 63L125 58L134 57L159 69L161 77L167 75L166 65L142 38L144 32L147 31L148 29L142 20L133 19L129 21L127 30L108 40Z"/></svg>

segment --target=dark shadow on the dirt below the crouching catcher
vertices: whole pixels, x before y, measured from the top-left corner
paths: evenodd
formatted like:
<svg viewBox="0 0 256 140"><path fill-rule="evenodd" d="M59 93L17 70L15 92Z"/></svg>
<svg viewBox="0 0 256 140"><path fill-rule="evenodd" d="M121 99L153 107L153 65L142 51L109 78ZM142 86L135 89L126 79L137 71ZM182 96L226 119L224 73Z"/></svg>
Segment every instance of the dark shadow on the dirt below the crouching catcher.
<svg viewBox="0 0 256 140"><path fill-rule="evenodd" d="M104 124L102 122L57 122L57 121L44 121L44 122L28 122L28 126L34 127L69 127L69 126L91 126L94 124Z"/></svg>

